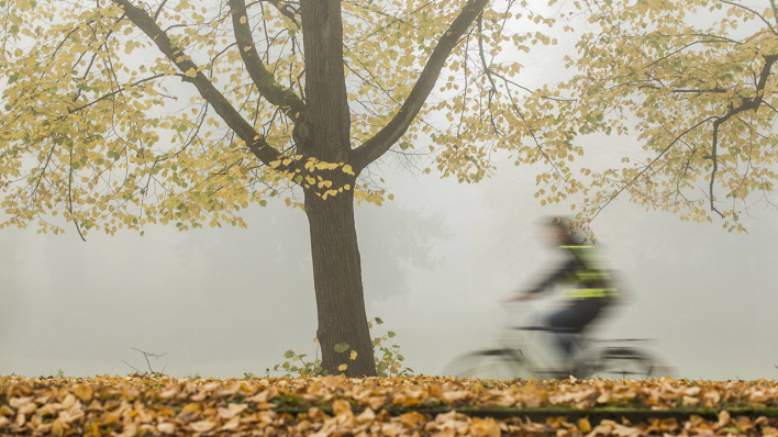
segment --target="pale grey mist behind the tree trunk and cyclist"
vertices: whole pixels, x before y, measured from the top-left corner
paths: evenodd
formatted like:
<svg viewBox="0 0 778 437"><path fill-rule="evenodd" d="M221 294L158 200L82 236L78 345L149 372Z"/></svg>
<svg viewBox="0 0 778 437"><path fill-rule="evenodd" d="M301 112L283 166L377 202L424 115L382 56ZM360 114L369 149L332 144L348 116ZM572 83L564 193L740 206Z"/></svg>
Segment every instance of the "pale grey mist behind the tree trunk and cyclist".
<svg viewBox="0 0 778 437"><path fill-rule="evenodd" d="M560 54L573 43L516 57L524 83L569 76ZM629 137L578 141L579 161L591 167L645 157ZM553 302L500 301L557 261L536 224L571 213L569 203L534 199L542 166L494 161L493 178L459 184L410 173L389 157L371 170L394 200L356 208L367 315L385 321L373 336L396 332L391 343L416 373L438 374L457 355L492 345L507 324L552 311ZM646 212L626 197L611 203L592 229L627 281L630 303L598 335L656 339L649 348L679 377L778 377L778 212L749 212L742 214L748 234L738 235L715 220ZM177 377L264 376L288 349L314 356L304 213L269 201L243 216L247 229L158 225L143 237L92 232L87 243L71 224L60 236L0 231L0 373L132 372L122 360L146 370L132 348L166 354L152 360L154 370Z"/></svg>

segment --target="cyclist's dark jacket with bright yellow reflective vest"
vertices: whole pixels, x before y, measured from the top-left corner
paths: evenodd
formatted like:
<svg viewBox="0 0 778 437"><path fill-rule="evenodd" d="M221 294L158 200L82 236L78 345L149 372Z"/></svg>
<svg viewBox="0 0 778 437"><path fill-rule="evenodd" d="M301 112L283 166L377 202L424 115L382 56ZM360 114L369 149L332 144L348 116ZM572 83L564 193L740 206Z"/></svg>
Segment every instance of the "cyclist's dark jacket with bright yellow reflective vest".
<svg viewBox="0 0 778 437"><path fill-rule="evenodd" d="M619 292L611 284L611 276L599 258L597 248L590 245L559 246L569 253L570 260L552 272L530 293L540 293L556 282L575 285L567 292L569 298L616 298Z"/></svg>

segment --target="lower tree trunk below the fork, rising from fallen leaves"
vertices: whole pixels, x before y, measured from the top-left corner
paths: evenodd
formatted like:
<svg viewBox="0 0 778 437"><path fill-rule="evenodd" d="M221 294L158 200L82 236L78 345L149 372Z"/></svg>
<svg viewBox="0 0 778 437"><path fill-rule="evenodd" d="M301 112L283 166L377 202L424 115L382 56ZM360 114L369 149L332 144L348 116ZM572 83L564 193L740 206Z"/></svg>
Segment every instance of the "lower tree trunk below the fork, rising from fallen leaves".
<svg viewBox="0 0 778 437"><path fill-rule="evenodd" d="M354 187L352 182L352 187ZM311 228L313 283L316 293L322 368L347 377L375 377L370 332L367 327L362 267L354 225L353 191L322 200L305 190L305 213ZM348 349L336 352L335 345ZM352 350L357 351L355 360ZM345 371L338 370L347 365Z"/></svg>

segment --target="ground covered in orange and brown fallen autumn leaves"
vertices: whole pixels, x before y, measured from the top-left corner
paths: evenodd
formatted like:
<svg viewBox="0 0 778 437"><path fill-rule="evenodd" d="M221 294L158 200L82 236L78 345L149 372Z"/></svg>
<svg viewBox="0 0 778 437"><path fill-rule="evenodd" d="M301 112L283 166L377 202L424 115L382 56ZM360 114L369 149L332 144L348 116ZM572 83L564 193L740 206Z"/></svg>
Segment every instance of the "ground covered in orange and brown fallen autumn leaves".
<svg viewBox="0 0 778 437"><path fill-rule="evenodd" d="M777 406L765 380L0 378L0 434L30 436L778 436Z"/></svg>

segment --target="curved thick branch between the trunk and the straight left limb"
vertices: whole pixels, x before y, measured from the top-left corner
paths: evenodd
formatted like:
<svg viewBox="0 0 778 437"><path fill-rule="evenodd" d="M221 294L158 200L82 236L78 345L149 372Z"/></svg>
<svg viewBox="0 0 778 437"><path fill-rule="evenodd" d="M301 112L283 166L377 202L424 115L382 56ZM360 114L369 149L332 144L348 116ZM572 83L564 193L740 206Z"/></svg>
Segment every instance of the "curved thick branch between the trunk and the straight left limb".
<svg viewBox="0 0 778 437"><path fill-rule="evenodd" d="M268 102L280 107L292 122L297 122L298 117L305 111L305 104L291 89L278 83L267 68L265 68L262 57L254 44L245 1L230 0L230 9L232 13L232 29L235 32L235 41L238 46L237 51L241 53L243 64L246 65L246 69L254 85Z"/></svg>

